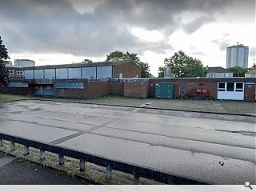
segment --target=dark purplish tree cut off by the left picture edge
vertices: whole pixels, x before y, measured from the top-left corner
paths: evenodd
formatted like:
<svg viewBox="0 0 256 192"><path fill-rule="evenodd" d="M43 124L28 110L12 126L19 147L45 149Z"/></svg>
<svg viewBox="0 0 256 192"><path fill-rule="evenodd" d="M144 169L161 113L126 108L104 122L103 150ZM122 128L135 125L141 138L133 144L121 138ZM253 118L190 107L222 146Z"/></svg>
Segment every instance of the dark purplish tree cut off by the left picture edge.
<svg viewBox="0 0 256 192"><path fill-rule="evenodd" d="M6 59L8 59L8 52L0 36L0 86L9 86L9 74L6 69Z"/></svg>

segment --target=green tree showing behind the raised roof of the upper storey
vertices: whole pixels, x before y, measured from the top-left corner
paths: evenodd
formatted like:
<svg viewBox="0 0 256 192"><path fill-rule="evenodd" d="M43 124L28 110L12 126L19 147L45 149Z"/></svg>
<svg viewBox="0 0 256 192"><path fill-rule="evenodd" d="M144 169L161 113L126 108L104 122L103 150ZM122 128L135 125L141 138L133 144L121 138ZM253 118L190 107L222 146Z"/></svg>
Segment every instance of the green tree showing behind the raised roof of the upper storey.
<svg viewBox="0 0 256 192"><path fill-rule="evenodd" d="M137 66L139 66L142 70L141 77L142 78L150 78L150 66L147 62L142 62L138 57L138 54L135 53L122 53L120 50L116 50L111 52L110 54L106 55L106 62L109 61L123 61L123 60L130 60L134 62Z"/></svg>

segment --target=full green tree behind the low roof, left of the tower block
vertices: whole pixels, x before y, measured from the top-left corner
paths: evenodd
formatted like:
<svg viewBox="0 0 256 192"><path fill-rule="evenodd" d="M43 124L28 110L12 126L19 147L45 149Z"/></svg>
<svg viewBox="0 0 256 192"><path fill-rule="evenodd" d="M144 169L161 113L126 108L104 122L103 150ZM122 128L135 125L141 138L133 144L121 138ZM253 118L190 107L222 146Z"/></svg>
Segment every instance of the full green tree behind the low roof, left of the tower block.
<svg viewBox="0 0 256 192"><path fill-rule="evenodd" d="M166 58L164 65L170 66L172 74L178 78L204 78L207 74L207 70L198 58L192 58L182 50L174 53L170 58Z"/></svg>

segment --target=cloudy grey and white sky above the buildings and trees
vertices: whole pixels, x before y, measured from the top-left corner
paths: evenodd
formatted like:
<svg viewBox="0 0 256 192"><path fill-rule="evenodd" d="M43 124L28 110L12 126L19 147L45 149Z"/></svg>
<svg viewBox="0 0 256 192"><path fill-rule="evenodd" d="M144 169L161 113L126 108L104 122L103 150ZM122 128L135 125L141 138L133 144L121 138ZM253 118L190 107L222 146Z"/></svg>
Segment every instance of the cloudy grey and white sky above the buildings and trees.
<svg viewBox="0 0 256 192"><path fill-rule="evenodd" d="M226 46L249 46L255 62L254 0L0 0L0 35L10 58L36 66L104 61L138 53L158 74L178 50L226 67Z"/></svg>

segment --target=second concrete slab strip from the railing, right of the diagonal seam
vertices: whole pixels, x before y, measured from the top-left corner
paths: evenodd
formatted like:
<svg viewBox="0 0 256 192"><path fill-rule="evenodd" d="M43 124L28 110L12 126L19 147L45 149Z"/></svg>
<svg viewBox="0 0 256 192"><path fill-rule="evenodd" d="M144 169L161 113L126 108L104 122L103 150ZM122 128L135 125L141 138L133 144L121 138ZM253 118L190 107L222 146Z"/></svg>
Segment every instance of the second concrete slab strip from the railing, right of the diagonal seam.
<svg viewBox="0 0 256 192"><path fill-rule="evenodd" d="M215 154L225 158L236 158L248 162L256 162L254 149L239 146L226 146L218 143L199 142L185 138L171 138L163 135L138 133L108 127L94 130L91 134L109 138L120 138L126 141L142 142L151 146L164 146L173 149L188 150L194 153Z"/></svg>

